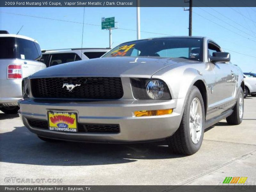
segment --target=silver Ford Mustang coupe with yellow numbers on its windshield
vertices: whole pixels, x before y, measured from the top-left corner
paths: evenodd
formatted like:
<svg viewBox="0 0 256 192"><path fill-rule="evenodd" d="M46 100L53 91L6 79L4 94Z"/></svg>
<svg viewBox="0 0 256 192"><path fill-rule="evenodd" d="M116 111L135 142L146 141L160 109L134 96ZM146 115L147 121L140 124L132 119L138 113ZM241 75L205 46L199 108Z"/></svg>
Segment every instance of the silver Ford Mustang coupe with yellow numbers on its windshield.
<svg viewBox="0 0 256 192"><path fill-rule="evenodd" d="M243 73L229 61L206 37L126 42L23 79L20 118L45 141L166 140L191 155L205 128L242 122Z"/></svg>

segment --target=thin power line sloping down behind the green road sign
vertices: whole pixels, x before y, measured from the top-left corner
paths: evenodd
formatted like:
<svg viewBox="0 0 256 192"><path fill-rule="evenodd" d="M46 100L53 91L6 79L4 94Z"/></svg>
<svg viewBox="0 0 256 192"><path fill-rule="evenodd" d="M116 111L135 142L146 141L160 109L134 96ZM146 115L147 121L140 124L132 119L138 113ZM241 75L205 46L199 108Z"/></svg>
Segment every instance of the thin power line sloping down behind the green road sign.
<svg viewBox="0 0 256 192"><path fill-rule="evenodd" d="M26 14L20 14L20 13L10 13L10 12L1 12L1 13L11 14L11 15L20 15L20 16L26 16L26 17L34 17L34 18L38 18L38 19L48 19L48 20L63 21L63 22L76 23L76 24L83 24L83 23L77 22L77 21L53 19L53 18L48 18L48 17L39 17L39 16L26 15ZM91 26L99 26L99 27L101 27L101 25L96 25L96 24L92 24L92 23L84 23L84 25L91 25ZM128 29L128 28L118 28L118 29L128 30L128 31L137 31L136 29ZM171 35L171 34L155 33L155 32L149 32L149 31L140 31L140 32L143 32L143 33L150 33L150 34L156 34L156 35L173 36L173 35Z"/></svg>

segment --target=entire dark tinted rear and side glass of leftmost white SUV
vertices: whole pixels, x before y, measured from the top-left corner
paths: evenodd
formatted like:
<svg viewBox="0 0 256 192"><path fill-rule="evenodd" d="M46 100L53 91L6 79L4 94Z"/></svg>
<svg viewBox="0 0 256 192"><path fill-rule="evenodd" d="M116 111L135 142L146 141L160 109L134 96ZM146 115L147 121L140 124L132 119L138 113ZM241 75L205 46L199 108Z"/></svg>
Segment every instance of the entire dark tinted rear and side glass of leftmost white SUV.
<svg viewBox="0 0 256 192"><path fill-rule="evenodd" d="M0 59L39 60L41 49L36 42L16 38L0 37Z"/></svg>

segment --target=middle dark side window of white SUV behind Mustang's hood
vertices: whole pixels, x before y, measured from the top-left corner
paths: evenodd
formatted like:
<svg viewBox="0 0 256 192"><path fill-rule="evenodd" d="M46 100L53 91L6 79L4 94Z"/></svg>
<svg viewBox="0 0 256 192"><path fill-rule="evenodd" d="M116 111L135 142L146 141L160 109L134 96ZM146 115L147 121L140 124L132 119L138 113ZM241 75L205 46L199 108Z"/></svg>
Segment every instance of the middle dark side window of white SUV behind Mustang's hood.
<svg viewBox="0 0 256 192"><path fill-rule="evenodd" d="M52 54L50 66L75 61L75 57L76 57L75 53L56 53L56 54Z"/></svg>

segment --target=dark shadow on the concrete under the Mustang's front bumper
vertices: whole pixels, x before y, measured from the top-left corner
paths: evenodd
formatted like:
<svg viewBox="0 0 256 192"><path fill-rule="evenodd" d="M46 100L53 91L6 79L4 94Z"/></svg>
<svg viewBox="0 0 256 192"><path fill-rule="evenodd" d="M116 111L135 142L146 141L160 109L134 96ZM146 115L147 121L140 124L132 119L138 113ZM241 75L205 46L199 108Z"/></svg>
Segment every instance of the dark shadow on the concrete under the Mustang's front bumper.
<svg viewBox="0 0 256 192"><path fill-rule="evenodd" d="M33 165L104 165L131 163L139 159L180 158L171 154L165 142L140 144L97 144L45 142L27 130L14 127L0 134L0 161Z"/></svg>

